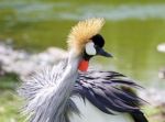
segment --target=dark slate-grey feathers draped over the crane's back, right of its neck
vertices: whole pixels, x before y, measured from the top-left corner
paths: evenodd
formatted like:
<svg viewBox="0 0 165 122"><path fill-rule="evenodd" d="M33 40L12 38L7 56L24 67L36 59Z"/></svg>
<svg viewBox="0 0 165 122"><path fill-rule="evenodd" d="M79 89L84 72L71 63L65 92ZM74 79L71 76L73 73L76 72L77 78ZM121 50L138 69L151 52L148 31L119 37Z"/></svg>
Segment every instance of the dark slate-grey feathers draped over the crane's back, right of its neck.
<svg viewBox="0 0 165 122"><path fill-rule="evenodd" d="M102 112L114 114L140 109L143 100L132 91L132 88L139 87L122 74L90 70L79 74L73 92L87 98Z"/></svg>

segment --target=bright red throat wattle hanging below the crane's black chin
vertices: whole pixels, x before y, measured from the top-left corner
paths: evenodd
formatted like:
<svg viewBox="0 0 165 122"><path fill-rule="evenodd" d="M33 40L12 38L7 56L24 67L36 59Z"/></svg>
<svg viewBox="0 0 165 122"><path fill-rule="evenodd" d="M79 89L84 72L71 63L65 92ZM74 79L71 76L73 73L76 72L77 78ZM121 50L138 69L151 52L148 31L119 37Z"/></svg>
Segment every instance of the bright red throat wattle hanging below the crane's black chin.
<svg viewBox="0 0 165 122"><path fill-rule="evenodd" d="M80 63L79 63L78 69L79 69L80 71L87 71L88 66L89 66L89 62L82 59L82 60L80 60Z"/></svg>

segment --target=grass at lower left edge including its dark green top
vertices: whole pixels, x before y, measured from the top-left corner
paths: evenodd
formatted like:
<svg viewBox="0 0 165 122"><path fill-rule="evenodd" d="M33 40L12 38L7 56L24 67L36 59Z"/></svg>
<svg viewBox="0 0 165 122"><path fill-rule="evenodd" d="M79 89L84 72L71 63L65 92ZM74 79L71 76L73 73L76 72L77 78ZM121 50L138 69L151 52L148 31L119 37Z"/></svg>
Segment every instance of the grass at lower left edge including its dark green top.
<svg viewBox="0 0 165 122"><path fill-rule="evenodd" d="M0 122L23 122L20 114L22 101L16 96L18 76L0 76Z"/></svg>

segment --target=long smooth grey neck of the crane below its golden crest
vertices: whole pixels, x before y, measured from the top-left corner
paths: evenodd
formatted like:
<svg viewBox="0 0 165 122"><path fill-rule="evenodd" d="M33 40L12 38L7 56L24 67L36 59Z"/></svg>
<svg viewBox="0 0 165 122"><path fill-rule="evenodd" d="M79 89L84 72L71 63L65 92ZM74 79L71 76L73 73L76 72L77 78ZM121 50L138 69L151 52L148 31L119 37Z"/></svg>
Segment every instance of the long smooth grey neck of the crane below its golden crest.
<svg viewBox="0 0 165 122"><path fill-rule="evenodd" d="M50 115L51 119L48 122L68 122L65 108L67 106L75 81L78 77L79 59L79 56L74 56L72 52L69 53L69 58L64 75L57 81L57 89L54 92L54 100L52 101L55 103L53 110L54 112L52 112Z"/></svg>

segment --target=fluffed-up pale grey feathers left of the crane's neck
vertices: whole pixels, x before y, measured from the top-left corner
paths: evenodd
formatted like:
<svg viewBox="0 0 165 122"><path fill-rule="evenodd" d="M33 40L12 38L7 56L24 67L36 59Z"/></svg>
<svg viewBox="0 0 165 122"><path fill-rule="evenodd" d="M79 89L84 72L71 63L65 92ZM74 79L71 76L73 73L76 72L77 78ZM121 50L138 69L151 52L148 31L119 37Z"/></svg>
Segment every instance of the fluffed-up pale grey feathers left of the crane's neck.
<svg viewBox="0 0 165 122"><path fill-rule="evenodd" d="M78 109L74 102L68 99L61 115L55 115L54 96L56 81L62 77L66 68L66 60L54 67L47 67L44 70L36 71L34 75L25 79L19 88L19 95L25 99L23 113L28 115L31 122L69 122L67 112L69 108L78 113ZM58 117L58 118L56 118Z"/></svg>

